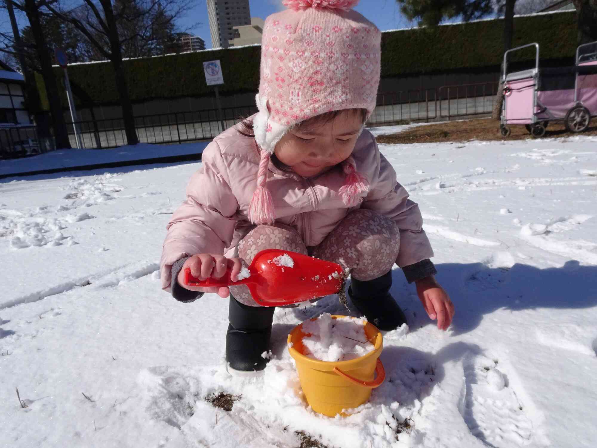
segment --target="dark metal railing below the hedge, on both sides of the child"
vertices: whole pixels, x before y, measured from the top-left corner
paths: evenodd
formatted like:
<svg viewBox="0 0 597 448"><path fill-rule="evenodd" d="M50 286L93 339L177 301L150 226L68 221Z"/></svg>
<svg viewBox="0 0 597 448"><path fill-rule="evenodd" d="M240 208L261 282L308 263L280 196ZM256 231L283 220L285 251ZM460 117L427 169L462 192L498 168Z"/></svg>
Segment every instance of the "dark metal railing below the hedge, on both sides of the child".
<svg viewBox="0 0 597 448"><path fill-rule="evenodd" d="M434 121L461 116L486 115L493 111L497 82L444 86L422 90L383 92L368 125L404 121ZM139 141L143 143L183 143L213 139L242 118L257 112L254 105L195 112L171 112L134 118ZM127 144L122 118L78 121L75 123L83 148L115 148ZM73 123L67 123L70 143L76 147Z"/></svg>

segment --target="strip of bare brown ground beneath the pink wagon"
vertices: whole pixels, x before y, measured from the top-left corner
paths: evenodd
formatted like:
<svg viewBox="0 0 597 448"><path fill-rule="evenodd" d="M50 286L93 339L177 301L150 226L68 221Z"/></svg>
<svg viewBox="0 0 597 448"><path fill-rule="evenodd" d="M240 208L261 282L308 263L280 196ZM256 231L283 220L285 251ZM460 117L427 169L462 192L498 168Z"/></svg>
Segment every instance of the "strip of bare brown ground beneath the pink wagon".
<svg viewBox="0 0 597 448"><path fill-rule="evenodd" d="M490 118L478 118L463 121L427 124L407 129L397 134L376 137L377 143L436 143L436 142L468 142L469 140L526 140L534 137L528 133L524 125L510 126L510 136L503 137L500 133L500 122ZM597 119L593 118L589 128L581 133L571 133L566 130L564 123L556 121L549 123L543 139L550 137L597 135Z"/></svg>

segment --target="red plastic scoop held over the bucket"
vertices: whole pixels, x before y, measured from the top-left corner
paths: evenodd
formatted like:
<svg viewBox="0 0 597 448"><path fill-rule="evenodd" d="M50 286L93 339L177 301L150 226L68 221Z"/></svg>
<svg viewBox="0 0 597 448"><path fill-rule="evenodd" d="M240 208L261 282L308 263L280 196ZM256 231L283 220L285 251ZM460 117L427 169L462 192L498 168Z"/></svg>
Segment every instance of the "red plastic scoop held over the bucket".
<svg viewBox="0 0 597 448"><path fill-rule="evenodd" d="M230 280L231 271L222 278L199 280L184 269L188 286L247 285L253 299L261 306L281 306L304 302L337 293L342 286L342 267L296 252L262 250L249 266L250 277Z"/></svg>

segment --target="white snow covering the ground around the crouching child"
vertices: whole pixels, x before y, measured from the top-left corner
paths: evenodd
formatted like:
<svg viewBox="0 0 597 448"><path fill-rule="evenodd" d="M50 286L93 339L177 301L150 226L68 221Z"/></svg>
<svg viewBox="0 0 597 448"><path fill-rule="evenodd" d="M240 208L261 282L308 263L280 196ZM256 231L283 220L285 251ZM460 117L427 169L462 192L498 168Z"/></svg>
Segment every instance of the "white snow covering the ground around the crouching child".
<svg viewBox="0 0 597 448"><path fill-rule="evenodd" d="M347 418L309 409L286 348L301 321L347 314L336 297L276 310L272 361L241 379L223 365L227 300L159 289L200 163L1 181L0 445L596 446L597 138L381 150L457 314L439 332L396 269L410 328L384 334L386 381ZM205 400L219 392L231 412Z"/></svg>

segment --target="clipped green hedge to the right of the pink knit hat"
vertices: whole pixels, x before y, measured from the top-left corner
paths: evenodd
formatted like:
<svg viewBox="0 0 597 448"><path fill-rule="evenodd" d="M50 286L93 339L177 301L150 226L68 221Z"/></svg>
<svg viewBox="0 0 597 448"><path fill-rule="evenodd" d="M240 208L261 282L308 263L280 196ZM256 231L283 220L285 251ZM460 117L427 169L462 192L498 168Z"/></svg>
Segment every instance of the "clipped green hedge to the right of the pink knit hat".
<svg viewBox="0 0 597 448"><path fill-rule="evenodd" d="M498 19L383 33L381 77L498 67L504 56L503 26ZM516 17L512 47L538 42L541 60L573 58L576 27L574 11ZM523 59L534 60L534 50L513 58Z"/></svg>

